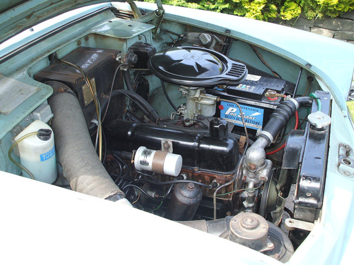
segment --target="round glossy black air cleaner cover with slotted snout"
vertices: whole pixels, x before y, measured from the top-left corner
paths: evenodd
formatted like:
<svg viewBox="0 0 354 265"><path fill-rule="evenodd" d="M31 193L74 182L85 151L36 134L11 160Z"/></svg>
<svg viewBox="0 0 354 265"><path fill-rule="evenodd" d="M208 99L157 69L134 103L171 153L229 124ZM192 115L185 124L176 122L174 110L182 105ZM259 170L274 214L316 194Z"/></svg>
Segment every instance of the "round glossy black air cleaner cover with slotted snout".
<svg viewBox="0 0 354 265"><path fill-rule="evenodd" d="M244 64L202 47L175 47L153 55L148 67L167 82L189 86L238 85L247 76Z"/></svg>

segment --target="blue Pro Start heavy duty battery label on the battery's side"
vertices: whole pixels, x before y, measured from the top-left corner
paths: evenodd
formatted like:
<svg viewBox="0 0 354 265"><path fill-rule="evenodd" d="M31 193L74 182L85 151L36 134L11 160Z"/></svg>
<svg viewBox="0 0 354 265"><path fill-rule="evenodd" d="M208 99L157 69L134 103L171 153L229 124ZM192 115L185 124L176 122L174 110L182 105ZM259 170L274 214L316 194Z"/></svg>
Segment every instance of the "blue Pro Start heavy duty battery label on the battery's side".
<svg viewBox="0 0 354 265"><path fill-rule="evenodd" d="M263 109L241 105L243 118L245 119L246 127L250 129L262 129L263 125ZM243 126L239 108L231 102L220 101L220 118L228 122L232 122L237 126Z"/></svg>

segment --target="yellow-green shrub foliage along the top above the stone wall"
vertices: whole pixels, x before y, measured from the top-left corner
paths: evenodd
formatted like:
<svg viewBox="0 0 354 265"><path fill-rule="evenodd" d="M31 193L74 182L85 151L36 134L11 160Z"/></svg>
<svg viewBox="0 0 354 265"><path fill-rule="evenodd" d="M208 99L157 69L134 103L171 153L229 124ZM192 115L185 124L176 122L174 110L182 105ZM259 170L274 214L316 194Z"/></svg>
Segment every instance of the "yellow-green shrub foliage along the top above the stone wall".
<svg viewBox="0 0 354 265"><path fill-rule="evenodd" d="M140 0L154 3L155 0ZM162 4L234 14L251 19L289 20L304 13L309 19L337 17L354 10L354 0L162 0Z"/></svg>

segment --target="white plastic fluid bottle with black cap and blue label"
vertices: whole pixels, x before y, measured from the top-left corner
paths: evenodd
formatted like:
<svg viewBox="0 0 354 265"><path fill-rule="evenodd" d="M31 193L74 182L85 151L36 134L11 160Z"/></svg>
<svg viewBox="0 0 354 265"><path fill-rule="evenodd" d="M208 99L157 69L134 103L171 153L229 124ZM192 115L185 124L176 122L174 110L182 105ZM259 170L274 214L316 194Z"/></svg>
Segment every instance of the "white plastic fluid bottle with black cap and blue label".
<svg viewBox="0 0 354 265"><path fill-rule="evenodd" d="M39 129L49 129L52 133L50 137L42 139L39 139L38 135L31 135L18 143L21 165L32 173L35 180L52 184L57 178L57 164L54 134L51 127L40 120L36 120L17 135L15 141ZM22 171L22 175L30 178L25 171Z"/></svg>

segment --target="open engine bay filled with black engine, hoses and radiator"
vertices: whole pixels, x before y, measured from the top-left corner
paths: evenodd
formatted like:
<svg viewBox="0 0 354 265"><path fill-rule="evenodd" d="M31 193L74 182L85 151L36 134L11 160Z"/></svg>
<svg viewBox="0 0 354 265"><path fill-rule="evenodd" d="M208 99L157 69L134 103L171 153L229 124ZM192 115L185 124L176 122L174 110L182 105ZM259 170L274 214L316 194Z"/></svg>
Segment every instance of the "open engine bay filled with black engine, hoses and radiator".
<svg viewBox="0 0 354 265"><path fill-rule="evenodd" d="M84 192L112 184L82 175L108 174L118 188L98 197L288 261L321 218L329 93L228 34L164 21L156 35L114 16L31 67L54 90L31 116L55 135L55 181L41 181Z"/></svg>

